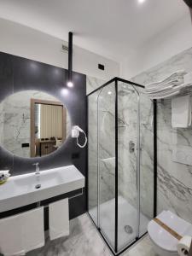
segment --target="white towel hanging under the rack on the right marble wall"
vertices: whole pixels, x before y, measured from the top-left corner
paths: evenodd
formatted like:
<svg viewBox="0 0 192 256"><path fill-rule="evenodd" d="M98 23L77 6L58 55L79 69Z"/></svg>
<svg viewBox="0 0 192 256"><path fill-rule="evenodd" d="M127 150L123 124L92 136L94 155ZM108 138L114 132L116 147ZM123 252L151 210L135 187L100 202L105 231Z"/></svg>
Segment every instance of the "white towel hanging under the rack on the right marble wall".
<svg viewBox="0 0 192 256"><path fill-rule="evenodd" d="M187 128L191 125L190 96L172 99L172 127Z"/></svg>

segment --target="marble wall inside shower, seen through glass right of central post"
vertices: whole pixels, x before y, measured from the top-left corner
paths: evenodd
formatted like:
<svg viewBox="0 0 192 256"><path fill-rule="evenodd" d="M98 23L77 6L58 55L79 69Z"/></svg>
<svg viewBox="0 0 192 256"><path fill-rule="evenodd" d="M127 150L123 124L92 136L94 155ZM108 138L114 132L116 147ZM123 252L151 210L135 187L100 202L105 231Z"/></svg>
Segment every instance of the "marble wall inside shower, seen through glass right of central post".
<svg viewBox="0 0 192 256"><path fill-rule="evenodd" d="M130 84L119 84L119 90L131 90ZM137 89L138 90L138 89ZM137 93L119 94L119 117L125 127L119 125L119 194L132 206L137 207L137 128L140 125L140 189L141 212L153 218L154 148L153 148L153 105L143 90L139 90L140 112ZM140 121L137 120L139 114ZM135 151L130 153L129 143L135 143ZM148 186L148 183L151 186Z"/></svg>

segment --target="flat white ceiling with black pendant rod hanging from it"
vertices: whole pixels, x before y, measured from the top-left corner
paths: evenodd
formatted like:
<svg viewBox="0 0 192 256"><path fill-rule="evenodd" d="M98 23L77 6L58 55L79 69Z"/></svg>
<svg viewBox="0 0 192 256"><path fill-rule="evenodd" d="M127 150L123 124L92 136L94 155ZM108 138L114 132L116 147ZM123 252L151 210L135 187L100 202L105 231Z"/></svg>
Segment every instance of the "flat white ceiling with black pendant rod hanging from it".
<svg viewBox="0 0 192 256"><path fill-rule="evenodd" d="M119 61L189 13L183 0L0 0L0 17Z"/></svg>

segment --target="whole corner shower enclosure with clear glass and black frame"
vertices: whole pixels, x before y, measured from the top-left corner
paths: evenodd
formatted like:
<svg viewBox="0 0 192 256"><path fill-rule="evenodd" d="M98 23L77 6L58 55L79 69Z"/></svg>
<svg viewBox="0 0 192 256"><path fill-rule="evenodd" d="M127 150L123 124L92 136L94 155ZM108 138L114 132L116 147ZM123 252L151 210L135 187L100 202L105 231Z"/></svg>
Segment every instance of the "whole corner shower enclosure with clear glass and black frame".
<svg viewBox="0 0 192 256"><path fill-rule="evenodd" d="M88 95L88 212L114 254L154 217L154 102L114 78Z"/></svg>

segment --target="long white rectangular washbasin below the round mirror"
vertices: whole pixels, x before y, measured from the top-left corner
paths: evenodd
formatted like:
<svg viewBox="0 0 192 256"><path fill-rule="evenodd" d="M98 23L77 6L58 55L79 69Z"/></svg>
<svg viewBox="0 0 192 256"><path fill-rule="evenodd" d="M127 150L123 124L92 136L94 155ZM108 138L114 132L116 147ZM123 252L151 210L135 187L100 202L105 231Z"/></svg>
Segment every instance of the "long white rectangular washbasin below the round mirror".
<svg viewBox="0 0 192 256"><path fill-rule="evenodd" d="M36 189L40 184L41 187ZM35 173L9 177L0 185L0 212L24 207L56 195L84 188L84 176L75 166L64 166Z"/></svg>

